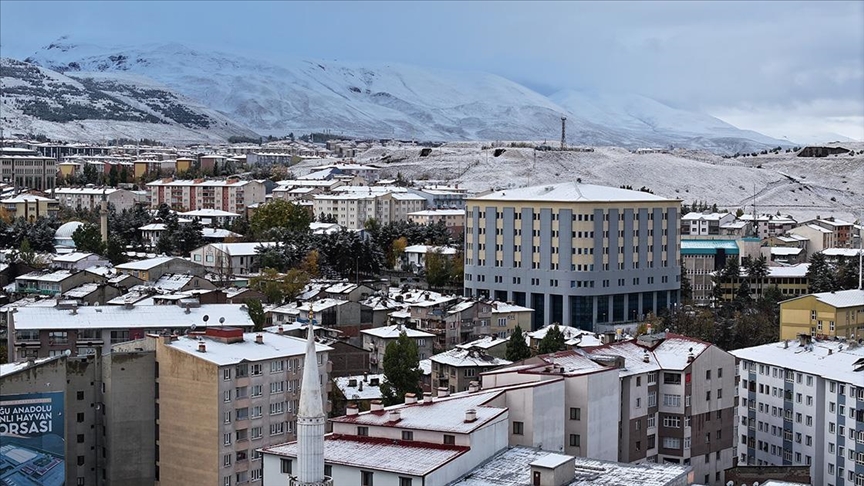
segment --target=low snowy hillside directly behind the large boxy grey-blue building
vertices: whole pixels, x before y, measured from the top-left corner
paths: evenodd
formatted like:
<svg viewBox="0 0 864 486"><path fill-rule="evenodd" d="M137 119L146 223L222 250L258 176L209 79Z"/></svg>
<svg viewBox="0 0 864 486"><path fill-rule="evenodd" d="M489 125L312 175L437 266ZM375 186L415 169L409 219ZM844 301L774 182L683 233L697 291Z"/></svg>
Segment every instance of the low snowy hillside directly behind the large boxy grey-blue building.
<svg viewBox="0 0 864 486"><path fill-rule="evenodd" d="M842 144L856 151L864 144ZM789 213L798 218L817 215L856 220L864 209L864 155L799 158L794 153L758 157L723 158L704 152L637 155L615 147L594 152L542 152L513 148L494 156L479 143L447 144L421 157L420 147L373 148L359 163L382 168L383 178L402 174L408 179L444 181L473 191L582 179L583 182L636 189L674 197L716 203L731 211L752 211L756 193L761 212ZM536 161L535 161L536 155ZM303 175L321 161L305 161L293 168ZM832 200L833 198L833 200Z"/></svg>

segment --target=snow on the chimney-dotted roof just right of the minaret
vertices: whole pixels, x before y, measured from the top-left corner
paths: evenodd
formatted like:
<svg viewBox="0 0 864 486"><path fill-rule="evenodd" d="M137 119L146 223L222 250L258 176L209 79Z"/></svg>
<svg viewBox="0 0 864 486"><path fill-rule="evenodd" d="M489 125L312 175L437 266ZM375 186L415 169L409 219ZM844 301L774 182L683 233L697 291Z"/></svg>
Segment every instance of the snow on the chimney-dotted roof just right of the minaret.
<svg viewBox="0 0 864 486"><path fill-rule="evenodd" d="M332 422L354 423L357 425L373 425L382 427L397 427L408 430L435 430L439 432L455 432L468 434L479 429L486 423L507 413L506 408L485 405L501 393L493 390L463 394L458 397L436 398L432 403L399 404L386 407L381 412L362 412L357 415L344 415L331 419ZM475 409L477 420L465 421L465 411ZM399 422L391 422L387 413L399 410Z"/></svg>

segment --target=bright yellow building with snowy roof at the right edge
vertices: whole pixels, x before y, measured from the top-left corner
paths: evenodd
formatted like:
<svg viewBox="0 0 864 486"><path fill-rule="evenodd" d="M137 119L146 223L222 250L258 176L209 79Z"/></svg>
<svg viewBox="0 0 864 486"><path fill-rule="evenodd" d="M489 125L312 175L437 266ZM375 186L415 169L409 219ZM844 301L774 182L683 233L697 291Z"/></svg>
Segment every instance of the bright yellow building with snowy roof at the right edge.
<svg viewBox="0 0 864 486"><path fill-rule="evenodd" d="M799 334L864 337L864 290L803 295L780 303L780 339Z"/></svg>

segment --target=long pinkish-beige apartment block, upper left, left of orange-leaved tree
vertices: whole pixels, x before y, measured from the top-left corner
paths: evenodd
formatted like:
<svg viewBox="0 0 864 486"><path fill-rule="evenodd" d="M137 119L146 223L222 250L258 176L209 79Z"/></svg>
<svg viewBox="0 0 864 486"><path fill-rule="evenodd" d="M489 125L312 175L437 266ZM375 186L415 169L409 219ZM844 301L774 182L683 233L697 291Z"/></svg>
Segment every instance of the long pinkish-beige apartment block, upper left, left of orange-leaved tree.
<svg viewBox="0 0 864 486"><path fill-rule="evenodd" d="M147 184L150 207L167 204L173 209L219 209L244 214L246 208L263 203L266 189L261 181L227 180L173 180L162 179Z"/></svg>

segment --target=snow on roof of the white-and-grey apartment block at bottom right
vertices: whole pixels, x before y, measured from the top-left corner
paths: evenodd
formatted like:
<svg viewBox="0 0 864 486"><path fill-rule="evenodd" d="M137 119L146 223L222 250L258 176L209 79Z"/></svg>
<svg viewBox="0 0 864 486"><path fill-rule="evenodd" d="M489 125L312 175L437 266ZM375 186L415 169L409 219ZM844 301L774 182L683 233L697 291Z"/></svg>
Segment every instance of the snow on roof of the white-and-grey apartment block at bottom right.
<svg viewBox="0 0 864 486"><path fill-rule="evenodd" d="M864 383L864 371L855 371L860 369L855 363L864 359L864 346L850 348L843 341L814 340L811 350L808 346L801 346L797 340L788 343L788 347L785 342L769 343L730 353L738 359L788 368L828 380L856 386Z"/></svg>

